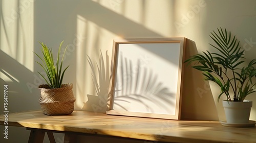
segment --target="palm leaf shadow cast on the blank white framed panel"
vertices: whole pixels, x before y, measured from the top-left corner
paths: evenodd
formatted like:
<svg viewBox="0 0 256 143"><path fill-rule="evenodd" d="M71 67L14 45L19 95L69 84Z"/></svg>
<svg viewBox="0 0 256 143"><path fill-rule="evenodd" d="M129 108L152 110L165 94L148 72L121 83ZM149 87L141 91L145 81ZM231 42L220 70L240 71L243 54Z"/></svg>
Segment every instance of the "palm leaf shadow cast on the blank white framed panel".
<svg viewBox="0 0 256 143"><path fill-rule="evenodd" d="M153 112L152 103L154 103L168 112L170 109L165 106L166 104L175 106L172 100L176 99L176 94L169 92L168 88L163 86L153 69L145 67L140 59L137 59L137 63L133 63L132 60L124 58L122 53L119 58L114 87L115 107L119 106L119 109L129 111L122 103L134 106L133 103L137 102L146 109L146 112Z"/></svg>

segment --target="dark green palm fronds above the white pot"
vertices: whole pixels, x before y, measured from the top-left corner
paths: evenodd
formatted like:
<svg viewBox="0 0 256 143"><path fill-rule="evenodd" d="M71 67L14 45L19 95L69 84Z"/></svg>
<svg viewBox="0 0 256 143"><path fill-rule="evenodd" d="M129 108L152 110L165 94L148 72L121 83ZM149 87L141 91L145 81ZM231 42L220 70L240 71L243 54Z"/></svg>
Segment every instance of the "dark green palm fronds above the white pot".
<svg viewBox="0 0 256 143"><path fill-rule="evenodd" d="M256 59L244 65L244 50L236 36L226 29L211 32L210 38L215 44L210 44L218 53L196 54L189 57L187 64L198 63L191 67L203 72L206 81L213 81L220 86L221 96L225 94L228 102L243 102L245 98L255 92L253 78L256 76ZM230 103L228 103L230 104Z"/></svg>

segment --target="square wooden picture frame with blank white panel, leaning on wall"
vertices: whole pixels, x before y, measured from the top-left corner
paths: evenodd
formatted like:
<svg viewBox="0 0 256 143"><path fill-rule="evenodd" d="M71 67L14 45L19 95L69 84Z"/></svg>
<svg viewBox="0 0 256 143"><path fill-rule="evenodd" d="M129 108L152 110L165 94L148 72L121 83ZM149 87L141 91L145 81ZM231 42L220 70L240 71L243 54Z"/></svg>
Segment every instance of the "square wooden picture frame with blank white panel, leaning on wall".
<svg viewBox="0 0 256 143"><path fill-rule="evenodd" d="M114 39L106 114L180 120L185 41Z"/></svg>

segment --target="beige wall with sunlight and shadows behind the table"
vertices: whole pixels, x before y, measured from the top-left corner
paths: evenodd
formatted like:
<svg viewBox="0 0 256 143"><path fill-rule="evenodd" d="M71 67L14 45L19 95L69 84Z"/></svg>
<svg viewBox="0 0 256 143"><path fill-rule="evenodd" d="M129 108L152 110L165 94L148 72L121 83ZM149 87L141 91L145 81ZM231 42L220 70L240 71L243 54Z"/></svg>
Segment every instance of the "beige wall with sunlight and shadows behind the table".
<svg viewBox="0 0 256 143"><path fill-rule="evenodd" d="M44 81L37 74L42 69L35 64L38 59L32 52L40 52L38 40L53 47L54 52L62 40L69 44L65 62L70 67L64 82L74 84L77 110L95 112L105 112L109 79L97 76L97 82L102 83L97 94L92 81L97 69L91 69L87 56L96 65L102 53L109 69L106 61L111 59L114 38L186 37L189 57L212 51L208 35L225 27L237 35L248 60L256 53L256 1L2 0L0 6L0 82L1 86L9 85L10 112L40 109L37 86ZM216 101L219 88L204 82L201 73L189 67L184 78L182 118L224 120L221 102ZM255 94L247 99L256 102ZM256 106L250 119L256 120ZM26 140L28 131L27 136L20 134L24 131L10 128L8 141Z"/></svg>

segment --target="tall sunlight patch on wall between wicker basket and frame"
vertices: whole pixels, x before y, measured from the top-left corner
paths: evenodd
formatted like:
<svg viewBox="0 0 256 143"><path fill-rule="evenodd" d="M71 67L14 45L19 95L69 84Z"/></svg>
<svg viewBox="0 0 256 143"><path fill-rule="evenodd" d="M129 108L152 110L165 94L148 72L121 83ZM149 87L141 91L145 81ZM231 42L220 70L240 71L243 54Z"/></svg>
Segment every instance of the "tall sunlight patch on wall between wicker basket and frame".
<svg viewBox="0 0 256 143"><path fill-rule="evenodd" d="M99 74L105 74L105 73L97 73L98 69L96 66L96 63L99 62L99 57L100 53L103 54L103 57L100 62L106 62L105 58L111 57L112 53L112 44L113 44L113 37L118 36L108 29L104 29L100 26L97 25L97 23L94 23L90 20L87 20L81 15L77 15L77 35L78 37L83 37L83 39L78 40L80 41L79 44L77 44L77 50L76 50L76 75L79 75L76 77L76 106L79 109L85 109L85 110L92 110L92 107L95 106L100 106L100 110L104 110L105 112L105 105L98 104L100 102L99 98L104 99L105 95L108 95L108 84L106 83L107 87L100 87L102 90L100 93L97 94L95 91L95 85L96 83L93 83L92 81L92 75L95 74L97 83L99 83ZM109 56L106 56L109 55ZM92 69L92 67L89 64L88 60L92 61L92 64L94 64L95 69ZM108 59L110 60L110 59ZM108 64L108 63L105 63ZM108 65L105 65L105 70L110 70ZM110 66L110 65L109 65ZM96 73L95 73L96 72ZM102 71L103 72L103 71ZM109 77L106 77L109 78ZM102 80L102 79L101 79ZM102 81L101 81L102 82ZM90 83L90 84L88 84ZM104 89L102 89L104 88ZM106 89L106 92L105 92ZM103 92L104 91L104 92ZM89 97L88 97L89 95ZM91 99L89 101L88 98L93 98L95 99L95 103L91 105L90 103L93 101ZM79 101L79 102L78 102ZM90 103L88 103L88 101ZM106 101L105 101L106 103ZM99 109L98 108L98 109ZM98 111L98 110L97 110Z"/></svg>

